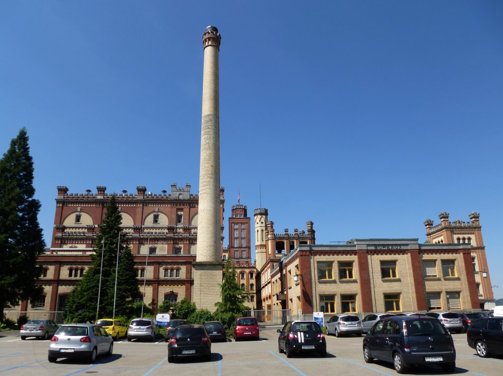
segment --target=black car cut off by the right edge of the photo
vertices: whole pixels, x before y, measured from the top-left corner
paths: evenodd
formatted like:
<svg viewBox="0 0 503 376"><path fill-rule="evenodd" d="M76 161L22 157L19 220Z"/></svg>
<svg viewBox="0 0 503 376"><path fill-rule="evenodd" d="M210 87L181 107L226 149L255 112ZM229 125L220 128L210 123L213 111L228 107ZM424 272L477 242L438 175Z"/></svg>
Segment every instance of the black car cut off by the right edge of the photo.
<svg viewBox="0 0 503 376"><path fill-rule="evenodd" d="M489 353L503 354L503 317L483 317L466 330L468 346L483 358Z"/></svg>

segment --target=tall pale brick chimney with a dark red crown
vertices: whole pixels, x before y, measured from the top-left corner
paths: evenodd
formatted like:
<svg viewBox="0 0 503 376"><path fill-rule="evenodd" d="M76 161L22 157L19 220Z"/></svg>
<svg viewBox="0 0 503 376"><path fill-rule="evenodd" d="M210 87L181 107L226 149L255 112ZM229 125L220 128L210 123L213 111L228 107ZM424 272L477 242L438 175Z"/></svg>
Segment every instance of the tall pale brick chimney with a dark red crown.
<svg viewBox="0 0 503 376"><path fill-rule="evenodd" d="M215 310L222 281L220 228L220 120L218 53L220 34L208 26L203 34L203 108L201 120L201 165L197 256L194 268L193 301L197 308Z"/></svg>

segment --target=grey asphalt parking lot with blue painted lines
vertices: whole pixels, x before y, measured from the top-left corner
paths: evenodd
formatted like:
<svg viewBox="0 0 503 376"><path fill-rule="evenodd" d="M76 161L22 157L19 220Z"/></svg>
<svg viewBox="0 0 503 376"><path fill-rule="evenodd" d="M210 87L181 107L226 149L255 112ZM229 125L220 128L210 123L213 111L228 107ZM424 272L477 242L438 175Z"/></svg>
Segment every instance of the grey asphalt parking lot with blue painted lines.
<svg viewBox="0 0 503 376"><path fill-rule="evenodd" d="M157 342L114 342L112 356L100 356L95 364L85 360L59 359L47 361L48 340L28 338L22 341L19 333L0 333L0 373L6 375L332 375L345 376L396 375L391 363L367 364L362 356L362 338L327 336L327 356L300 354L288 359L278 352L277 328L261 328L260 341L212 343L211 361L184 359L167 362L167 344ZM466 334L453 334L457 351L454 373L496 376L501 375L503 357L480 358L468 347ZM411 367L409 374L445 374L435 365Z"/></svg>

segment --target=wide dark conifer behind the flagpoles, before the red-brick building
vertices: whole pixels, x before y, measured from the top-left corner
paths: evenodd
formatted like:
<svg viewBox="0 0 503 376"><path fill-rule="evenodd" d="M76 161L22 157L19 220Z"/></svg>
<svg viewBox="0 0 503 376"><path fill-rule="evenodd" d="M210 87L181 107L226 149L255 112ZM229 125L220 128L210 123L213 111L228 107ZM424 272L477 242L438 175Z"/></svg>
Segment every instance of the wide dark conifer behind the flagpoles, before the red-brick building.
<svg viewBox="0 0 503 376"><path fill-rule="evenodd" d="M121 233L121 223L119 207L115 196L112 196L107 204L107 212L100 225L100 232L96 235L95 253L91 256L93 264L86 270L66 301L63 314L67 322L87 322L100 317L113 316L117 252L119 252L119 262L115 316L128 316L133 312L132 302L135 297L139 296L139 289L133 255L127 243L127 236ZM98 291L100 306L97 311Z"/></svg>

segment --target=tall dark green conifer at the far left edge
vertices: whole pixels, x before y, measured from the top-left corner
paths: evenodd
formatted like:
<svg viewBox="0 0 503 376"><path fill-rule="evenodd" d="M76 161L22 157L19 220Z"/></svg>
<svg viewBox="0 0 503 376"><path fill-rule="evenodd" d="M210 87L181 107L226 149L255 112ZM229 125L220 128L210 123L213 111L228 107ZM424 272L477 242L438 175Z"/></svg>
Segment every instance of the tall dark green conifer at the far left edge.
<svg viewBox="0 0 503 376"><path fill-rule="evenodd" d="M35 200L33 160L23 128L0 159L0 320L4 308L20 300L36 300L42 287L38 255L45 242L38 223L40 202Z"/></svg>

